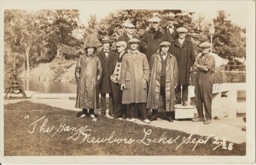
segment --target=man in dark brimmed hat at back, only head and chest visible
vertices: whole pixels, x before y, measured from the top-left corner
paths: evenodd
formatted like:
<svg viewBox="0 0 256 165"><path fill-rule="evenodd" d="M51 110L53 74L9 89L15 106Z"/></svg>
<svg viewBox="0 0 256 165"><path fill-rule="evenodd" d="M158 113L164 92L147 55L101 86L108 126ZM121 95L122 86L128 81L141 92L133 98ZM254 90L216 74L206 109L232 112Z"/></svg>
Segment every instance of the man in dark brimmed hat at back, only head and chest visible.
<svg viewBox="0 0 256 165"><path fill-rule="evenodd" d="M177 30L174 26L174 24L178 24L176 22L177 18L175 18L175 15L173 13L169 13L166 17L166 20L167 25L166 27L164 27L164 33L166 35L167 41L169 43L173 43L173 41L175 41L175 39L177 38Z"/></svg>

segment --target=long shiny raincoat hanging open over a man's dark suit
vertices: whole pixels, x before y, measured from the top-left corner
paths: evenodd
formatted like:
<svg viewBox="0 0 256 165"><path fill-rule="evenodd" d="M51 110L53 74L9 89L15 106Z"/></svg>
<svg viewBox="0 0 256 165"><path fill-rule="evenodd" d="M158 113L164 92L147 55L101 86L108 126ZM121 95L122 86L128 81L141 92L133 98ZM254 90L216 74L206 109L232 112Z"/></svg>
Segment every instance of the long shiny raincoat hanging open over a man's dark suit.
<svg viewBox="0 0 256 165"><path fill-rule="evenodd" d="M149 62L150 83L148 88L147 108L159 109L160 83L161 83L161 54L158 52L151 56ZM175 86L177 86L178 66L175 57L168 53L166 62L165 96L166 111L174 111Z"/></svg>

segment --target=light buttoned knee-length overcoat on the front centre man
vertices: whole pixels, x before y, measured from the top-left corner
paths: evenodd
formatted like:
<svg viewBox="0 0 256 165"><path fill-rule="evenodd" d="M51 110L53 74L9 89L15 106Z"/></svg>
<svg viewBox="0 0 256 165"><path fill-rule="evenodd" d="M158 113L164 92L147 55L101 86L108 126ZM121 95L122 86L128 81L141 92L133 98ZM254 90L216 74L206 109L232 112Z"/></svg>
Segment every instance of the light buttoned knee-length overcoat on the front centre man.
<svg viewBox="0 0 256 165"><path fill-rule="evenodd" d="M145 54L138 52L136 57L128 51L121 66L120 84L125 84L122 103L147 103L147 82L149 66Z"/></svg>

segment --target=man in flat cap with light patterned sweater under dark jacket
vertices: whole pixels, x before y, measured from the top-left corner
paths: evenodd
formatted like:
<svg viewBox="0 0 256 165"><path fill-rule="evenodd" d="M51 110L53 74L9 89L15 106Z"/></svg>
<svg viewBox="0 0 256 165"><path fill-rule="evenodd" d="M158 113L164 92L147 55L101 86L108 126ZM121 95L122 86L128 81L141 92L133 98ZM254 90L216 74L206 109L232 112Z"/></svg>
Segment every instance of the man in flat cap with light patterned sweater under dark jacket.
<svg viewBox="0 0 256 165"><path fill-rule="evenodd" d="M117 54L113 55L110 59L110 85L113 95L113 111L114 118L122 117L123 120L127 118L126 106L122 104L122 90L120 90L120 75L121 66L124 54L126 53L125 48L127 43L125 41L118 41L116 43Z"/></svg>

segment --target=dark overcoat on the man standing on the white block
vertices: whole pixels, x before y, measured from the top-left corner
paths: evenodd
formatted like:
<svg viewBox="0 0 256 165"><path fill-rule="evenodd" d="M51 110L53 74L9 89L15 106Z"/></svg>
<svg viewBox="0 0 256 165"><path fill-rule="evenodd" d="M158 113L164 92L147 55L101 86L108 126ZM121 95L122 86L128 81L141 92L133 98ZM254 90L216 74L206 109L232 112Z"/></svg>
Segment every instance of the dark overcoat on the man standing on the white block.
<svg viewBox="0 0 256 165"><path fill-rule="evenodd" d="M170 53L176 57L178 63L178 85L189 84L189 69L195 62L193 43L190 40L185 39L182 45L180 45L179 39L176 39L171 45Z"/></svg>

